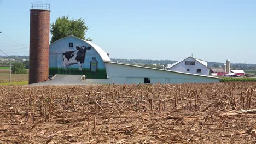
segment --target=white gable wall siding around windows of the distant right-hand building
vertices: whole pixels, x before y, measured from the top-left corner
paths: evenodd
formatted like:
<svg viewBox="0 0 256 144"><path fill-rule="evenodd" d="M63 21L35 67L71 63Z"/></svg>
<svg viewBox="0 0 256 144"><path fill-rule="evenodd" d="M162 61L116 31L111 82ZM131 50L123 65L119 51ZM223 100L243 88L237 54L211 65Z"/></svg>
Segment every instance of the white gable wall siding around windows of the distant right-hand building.
<svg viewBox="0 0 256 144"><path fill-rule="evenodd" d="M185 61L194 61L195 65L185 65ZM187 71L187 69L189 69L189 71ZM196 73L196 69L201 69L202 72L201 73ZM199 75L209 75L209 71L210 69L208 67L206 67L205 65L201 64L200 62L195 61L194 58L187 58L184 61L174 65L173 67L171 67L169 70L173 70L173 71L179 71L179 72L183 72L183 73L190 73L190 74L199 74Z"/></svg>

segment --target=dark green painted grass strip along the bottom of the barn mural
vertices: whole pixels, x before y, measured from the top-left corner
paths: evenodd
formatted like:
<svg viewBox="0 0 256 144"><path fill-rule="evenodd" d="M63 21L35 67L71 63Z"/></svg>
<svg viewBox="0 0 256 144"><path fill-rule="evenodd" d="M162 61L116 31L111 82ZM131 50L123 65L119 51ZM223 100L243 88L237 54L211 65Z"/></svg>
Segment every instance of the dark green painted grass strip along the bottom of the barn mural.
<svg viewBox="0 0 256 144"><path fill-rule="evenodd" d="M62 74L62 75L85 75L88 79L107 79L106 69L98 69L96 73L91 73L89 68L69 68L65 71L63 68L49 68L49 75Z"/></svg>

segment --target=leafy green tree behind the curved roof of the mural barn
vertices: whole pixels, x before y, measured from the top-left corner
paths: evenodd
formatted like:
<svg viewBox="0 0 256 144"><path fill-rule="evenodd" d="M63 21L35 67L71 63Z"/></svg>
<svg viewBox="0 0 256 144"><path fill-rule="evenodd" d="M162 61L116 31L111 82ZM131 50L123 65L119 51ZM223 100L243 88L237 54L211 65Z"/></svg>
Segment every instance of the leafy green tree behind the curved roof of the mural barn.
<svg viewBox="0 0 256 144"><path fill-rule="evenodd" d="M80 39L92 41L90 38L85 38L85 34L88 29L88 26L85 25L85 21L81 18L77 20L70 20L68 19L68 16L58 17L57 20L51 24L51 43L58 39L67 37L68 35L74 35Z"/></svg>

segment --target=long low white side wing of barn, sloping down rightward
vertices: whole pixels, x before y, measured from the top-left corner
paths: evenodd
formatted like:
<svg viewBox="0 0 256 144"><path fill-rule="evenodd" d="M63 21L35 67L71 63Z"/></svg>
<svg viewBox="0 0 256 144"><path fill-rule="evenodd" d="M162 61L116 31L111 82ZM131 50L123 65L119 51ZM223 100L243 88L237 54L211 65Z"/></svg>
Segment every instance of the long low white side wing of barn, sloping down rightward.
<svg viewBox="0 0 256 144"><path fill-rule="evenodd" d="M105 62L109 79L86 79L94 83L144 83L144 78L150 78L151 83L210 83L219 82L217 77L178 73L175 71L152 69Z"/></svg>

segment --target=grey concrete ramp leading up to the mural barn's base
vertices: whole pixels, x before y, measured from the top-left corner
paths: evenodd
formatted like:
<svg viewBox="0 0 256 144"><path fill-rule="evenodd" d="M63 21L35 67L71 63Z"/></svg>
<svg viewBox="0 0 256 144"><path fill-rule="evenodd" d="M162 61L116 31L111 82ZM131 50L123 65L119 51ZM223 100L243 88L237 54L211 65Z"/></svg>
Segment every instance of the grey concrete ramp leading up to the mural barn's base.
<svg viewBox="0 0 256 144"><path fill-rule="evenodd" d="M33 86L41 85L90 85L93 83L83 82L81 77L83 75L55 75L52 80L33 83Z"/></svg>

